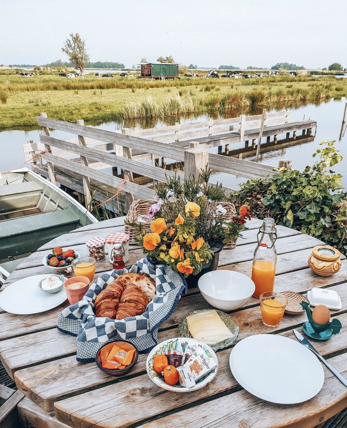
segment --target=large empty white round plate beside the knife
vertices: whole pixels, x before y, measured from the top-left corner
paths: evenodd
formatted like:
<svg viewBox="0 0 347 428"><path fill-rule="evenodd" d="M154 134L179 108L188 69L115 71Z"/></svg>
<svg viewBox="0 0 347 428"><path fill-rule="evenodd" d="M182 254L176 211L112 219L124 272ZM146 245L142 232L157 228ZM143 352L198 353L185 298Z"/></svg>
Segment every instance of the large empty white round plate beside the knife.
<svg viewBox="0 0 347 428"><path fill-rule="evenodd" d="M302 403L324 383L318 358L301 343L275 334L242 339L231 351L229 365L246 391L271 403Z"/></svg>

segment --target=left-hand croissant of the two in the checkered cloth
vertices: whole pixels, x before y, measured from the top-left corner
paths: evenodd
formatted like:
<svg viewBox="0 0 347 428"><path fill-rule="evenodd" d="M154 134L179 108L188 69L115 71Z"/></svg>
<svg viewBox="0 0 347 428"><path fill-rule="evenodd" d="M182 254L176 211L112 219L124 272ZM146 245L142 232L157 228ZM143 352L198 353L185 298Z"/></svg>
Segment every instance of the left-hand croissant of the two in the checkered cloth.
<svg viewBox="0 0 347 428"><path fill-rule="evenodd" d="M124 285L117 279L108 284L95 298L96 316L116 319L117 308L123 291Z"/></svg>

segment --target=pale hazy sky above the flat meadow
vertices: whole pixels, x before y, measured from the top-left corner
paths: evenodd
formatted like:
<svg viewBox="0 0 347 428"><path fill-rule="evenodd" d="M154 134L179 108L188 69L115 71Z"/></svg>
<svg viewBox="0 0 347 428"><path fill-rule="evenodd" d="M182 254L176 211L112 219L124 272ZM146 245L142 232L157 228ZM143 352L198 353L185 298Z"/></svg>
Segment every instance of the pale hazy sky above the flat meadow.
<svg viewBox="0 0 347 428"><path fill-rule="evenodd" d="M69 33L87 40L90 60L142 57L199 67L347 66L347 1L0 0L0 64L68 60Z"/></svg>

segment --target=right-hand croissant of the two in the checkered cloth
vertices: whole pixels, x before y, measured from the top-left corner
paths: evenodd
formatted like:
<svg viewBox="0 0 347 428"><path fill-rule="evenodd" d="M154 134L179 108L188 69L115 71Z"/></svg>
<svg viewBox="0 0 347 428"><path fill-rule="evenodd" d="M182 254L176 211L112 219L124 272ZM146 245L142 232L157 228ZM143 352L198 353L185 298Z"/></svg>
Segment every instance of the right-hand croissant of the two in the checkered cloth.
<svg viewBox="0 0 347 428"><path fill-rule="evenodd" d="M147 306L147 297L141 289L135 284L126 286L120 303L117 308L116 319L122 320L128 317L135 317L144 313Z"/></svg>

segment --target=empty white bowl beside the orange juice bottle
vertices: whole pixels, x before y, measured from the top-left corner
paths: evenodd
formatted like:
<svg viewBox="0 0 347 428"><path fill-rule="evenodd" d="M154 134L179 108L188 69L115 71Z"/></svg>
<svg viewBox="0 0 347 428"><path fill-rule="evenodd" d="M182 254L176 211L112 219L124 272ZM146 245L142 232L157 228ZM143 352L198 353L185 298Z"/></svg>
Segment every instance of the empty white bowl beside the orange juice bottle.
<svg viewBox="0 0 347 428"><path fill-rule="evenodd" d="M254 293L251 278L234 270L212 270L197 283L204 299L214 308L232 311L244 305Z"/></svg>

